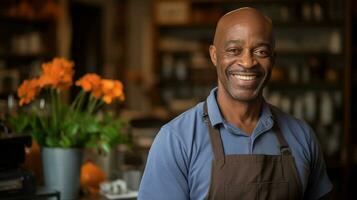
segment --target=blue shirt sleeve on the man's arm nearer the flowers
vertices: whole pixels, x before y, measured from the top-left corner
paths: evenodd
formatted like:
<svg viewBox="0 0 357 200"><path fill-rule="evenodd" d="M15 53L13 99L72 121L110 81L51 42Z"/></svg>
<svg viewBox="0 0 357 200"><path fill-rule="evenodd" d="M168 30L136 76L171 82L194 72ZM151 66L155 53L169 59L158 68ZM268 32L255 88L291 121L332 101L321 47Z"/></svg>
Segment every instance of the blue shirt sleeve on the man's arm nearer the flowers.
<svg viewBox="0 0 357 200"><path fill-rule="evenodd" d="M184 145L171 128L163 127L149 151L138 199L189 199Z"/></svg>

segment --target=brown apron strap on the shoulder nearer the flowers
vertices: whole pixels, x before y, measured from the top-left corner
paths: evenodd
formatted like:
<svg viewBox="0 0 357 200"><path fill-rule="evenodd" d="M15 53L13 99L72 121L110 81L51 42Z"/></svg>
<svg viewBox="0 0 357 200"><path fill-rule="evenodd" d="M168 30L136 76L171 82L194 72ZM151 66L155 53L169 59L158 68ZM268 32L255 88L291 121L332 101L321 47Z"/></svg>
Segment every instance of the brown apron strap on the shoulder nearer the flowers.
<svg viewBox="0 0 357 200"><path fill-rule="evenodd" d="M211 145L212 145L212 151L214 154L214 159L217 160L220 167L223 167L224 162L225 162L225 156L224 156L224 151L223 151L221 135L219 133L219 130L217 130L217 128L214 128L211 124L211 120L209 119L209 116L208 116L208 109L207 109L206 101L204 102L204 105L203 105L203 119L206 122L207 127L208 127L208 132L209 132L209 136L211 139Z"/></svg>

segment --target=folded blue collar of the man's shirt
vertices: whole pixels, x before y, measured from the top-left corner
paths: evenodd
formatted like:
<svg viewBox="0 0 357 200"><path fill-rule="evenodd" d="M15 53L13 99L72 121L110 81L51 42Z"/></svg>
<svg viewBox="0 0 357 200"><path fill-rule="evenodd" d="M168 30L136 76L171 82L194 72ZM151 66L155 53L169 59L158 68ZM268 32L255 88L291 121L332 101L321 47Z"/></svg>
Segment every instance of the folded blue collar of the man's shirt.
<svg viewBox="0 0 357 200"><path fill-rule="evenodd" d="M217 87L213 88L207 97L207 109L212 126L222 124L224 119L217 103ZM263 101L262 113L257 123L255 133L263 132L273 126L273 115L268 103Z"/></svg>

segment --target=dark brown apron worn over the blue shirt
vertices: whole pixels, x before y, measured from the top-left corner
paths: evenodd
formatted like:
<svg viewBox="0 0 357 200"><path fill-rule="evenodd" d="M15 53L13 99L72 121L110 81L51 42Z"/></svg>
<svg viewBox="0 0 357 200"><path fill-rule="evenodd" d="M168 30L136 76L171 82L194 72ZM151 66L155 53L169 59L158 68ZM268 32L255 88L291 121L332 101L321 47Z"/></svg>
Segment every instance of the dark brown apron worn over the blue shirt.
<svg viewBox="0 0 357 200"><path fill-rule="evenodd" d="M294 157L277 122L273 130L280 143L281 155L225 155L219 130L212 127L209 120L207 103L204 104L204 119L214 153L208 199L302 199Z"/></svg>

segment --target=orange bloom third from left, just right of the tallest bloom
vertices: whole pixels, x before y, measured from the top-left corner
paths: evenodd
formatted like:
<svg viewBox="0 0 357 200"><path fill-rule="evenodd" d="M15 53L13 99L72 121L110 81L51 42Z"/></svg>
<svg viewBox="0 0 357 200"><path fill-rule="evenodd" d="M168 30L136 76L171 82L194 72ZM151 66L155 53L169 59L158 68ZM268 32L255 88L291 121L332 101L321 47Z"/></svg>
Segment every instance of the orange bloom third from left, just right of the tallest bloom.
<svg viewBox="0 0 357 200"><path fill-rule="evenodd" d="M92 91L92 95L97 99L102 96L101 78L97 74L89 73L84 75L76 81L76 85L81 86L86 92Z"/></svg>

